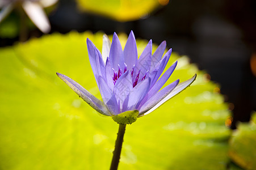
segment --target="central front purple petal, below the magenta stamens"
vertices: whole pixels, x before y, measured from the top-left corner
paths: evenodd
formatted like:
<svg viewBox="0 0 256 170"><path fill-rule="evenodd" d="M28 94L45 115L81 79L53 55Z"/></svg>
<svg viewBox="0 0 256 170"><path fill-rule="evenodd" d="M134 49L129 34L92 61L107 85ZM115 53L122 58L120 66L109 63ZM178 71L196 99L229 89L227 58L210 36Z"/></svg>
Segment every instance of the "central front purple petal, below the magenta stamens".
<svg viewBox="0 0 256 170"><path fill-rule="evenodd" d="M120 76L120 78L116 81L115 87L114 87L114 94L117 100L117 103L120 106L120 112L123 108L123 103L129 92L133 89L132 86L132 75L129 72L125 72Z"/></svg>

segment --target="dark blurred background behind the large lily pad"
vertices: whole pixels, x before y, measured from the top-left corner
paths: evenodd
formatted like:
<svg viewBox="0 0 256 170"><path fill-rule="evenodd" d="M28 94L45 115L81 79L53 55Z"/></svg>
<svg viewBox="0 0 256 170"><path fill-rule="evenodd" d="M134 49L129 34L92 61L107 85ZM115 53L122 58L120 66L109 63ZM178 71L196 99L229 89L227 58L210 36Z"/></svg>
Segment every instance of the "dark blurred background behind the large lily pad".
<svg viewBox="0 0 256 170"><path fill-rule="evenodd" d="M153 11L148 18L133 22L116 22L103 16L81 13L75 1L59 0L57 9L49 15L53 32L67 33L104 31L129 33L136 38L152 39L160 44L166 40L168 48L187 55L191 62L211 75L221 86L221 94L230 103L234 121L249 121L256 110L256 1L255 0L173 0ZM41 36L38 30L30 36ZM18 41L1 39L0 45ZM254 56L254 57L253 57Z"/></svg>

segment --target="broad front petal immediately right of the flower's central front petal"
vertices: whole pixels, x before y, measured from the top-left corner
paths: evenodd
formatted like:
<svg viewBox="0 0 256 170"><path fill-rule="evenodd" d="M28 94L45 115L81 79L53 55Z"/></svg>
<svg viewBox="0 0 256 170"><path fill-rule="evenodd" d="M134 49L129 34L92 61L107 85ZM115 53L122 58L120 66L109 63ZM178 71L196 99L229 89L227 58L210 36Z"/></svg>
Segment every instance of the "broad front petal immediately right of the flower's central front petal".
<svg viewBox="0 0 256 170"><path fill-rule="evenodd" d="M149 91L150 78L144 79L137 84L124 100L123 112L135 110L139 107L141 100Z"/></svg>

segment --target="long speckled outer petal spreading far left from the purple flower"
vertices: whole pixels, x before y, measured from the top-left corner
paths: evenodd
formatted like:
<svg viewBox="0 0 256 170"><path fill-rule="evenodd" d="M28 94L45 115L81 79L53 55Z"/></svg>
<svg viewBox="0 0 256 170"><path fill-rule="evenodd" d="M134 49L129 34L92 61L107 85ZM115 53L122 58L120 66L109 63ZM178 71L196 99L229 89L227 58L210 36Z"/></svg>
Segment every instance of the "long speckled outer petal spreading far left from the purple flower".
<svg viewBox="0 0 256 170"><path fill-rule="evenodd" d="M110 116L110 112L108 112L105 105L97 99L95 96L90 94L85 88L83 88L80 84L75 82L74 80L70 79L68 76L57 73L57 76L61 78L72 90L78 94L79 97L81 97L86 103L88 103L92 108L94 108L96 111L98 111L101 114L104 114L106 116Z"/></svg>

